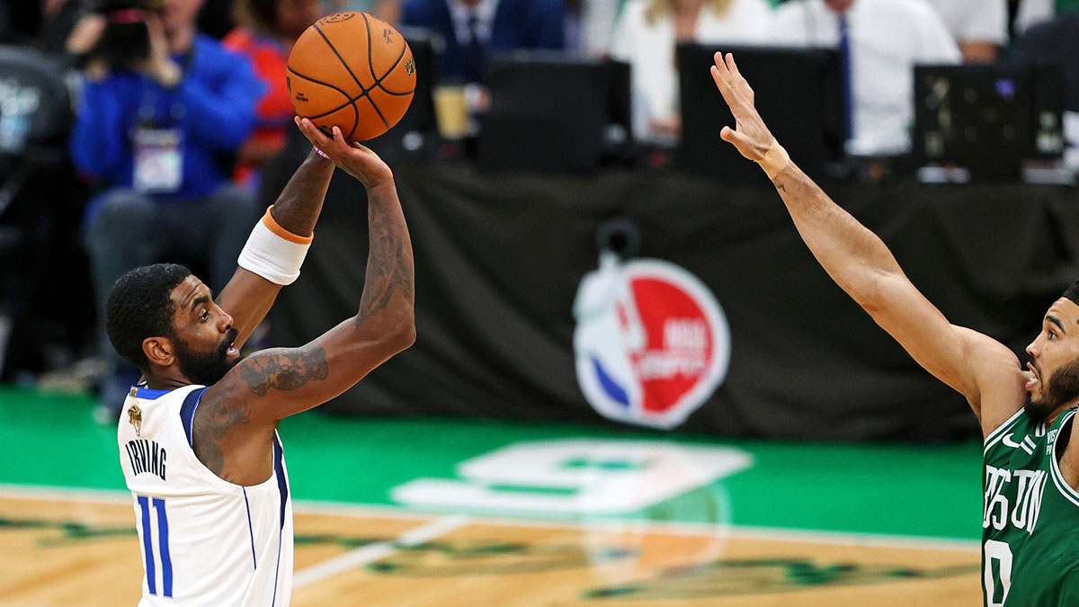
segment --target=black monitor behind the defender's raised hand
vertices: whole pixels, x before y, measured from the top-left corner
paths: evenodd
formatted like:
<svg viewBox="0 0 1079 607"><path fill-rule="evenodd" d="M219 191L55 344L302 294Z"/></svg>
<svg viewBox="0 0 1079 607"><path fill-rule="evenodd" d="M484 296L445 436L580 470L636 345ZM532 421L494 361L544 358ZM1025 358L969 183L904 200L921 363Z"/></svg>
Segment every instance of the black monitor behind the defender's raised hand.
<svg viewBox="0 0 1079 607"><path fill-rule="evenodd" d="M675 51L682 112L675 166L730 184L762 183L734 146L720 139L735 119L709 71L716 51L734 53L757 111L798 166L814 177L834 173L847 139L836 51L698 43L681 43Z"/></svg>

